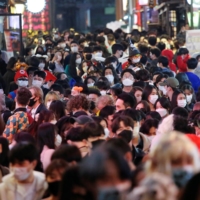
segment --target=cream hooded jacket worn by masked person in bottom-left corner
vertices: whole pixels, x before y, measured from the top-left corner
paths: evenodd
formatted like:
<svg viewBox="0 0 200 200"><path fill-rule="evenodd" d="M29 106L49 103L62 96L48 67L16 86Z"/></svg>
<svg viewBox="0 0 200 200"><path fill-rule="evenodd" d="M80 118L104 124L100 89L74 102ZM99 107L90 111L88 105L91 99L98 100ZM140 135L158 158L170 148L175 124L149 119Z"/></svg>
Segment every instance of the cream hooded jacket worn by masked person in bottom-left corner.
<svg viewBox="0 0 200 200"><path fill-rule="evenodd" d="M41 172L33 171L34 180L31 188L24 194L22 187L14 177L13 173L3 177L0 184L0 200L40 200L47 189L45 175ZM21 184L23 186L23 184ZM25 184L24 184L25 185ZM26 187L24 189L27 189Z"/></svg>

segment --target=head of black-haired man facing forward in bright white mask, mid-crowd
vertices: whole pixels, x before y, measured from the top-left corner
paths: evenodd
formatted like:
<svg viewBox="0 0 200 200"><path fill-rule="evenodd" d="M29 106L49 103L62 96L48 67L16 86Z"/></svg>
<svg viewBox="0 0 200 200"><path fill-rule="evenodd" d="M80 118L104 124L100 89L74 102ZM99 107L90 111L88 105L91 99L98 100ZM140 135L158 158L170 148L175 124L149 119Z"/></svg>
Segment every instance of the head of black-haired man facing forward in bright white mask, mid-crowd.
<svg viewBox="0 0 200 200"><path fill-rule="evenodd" d="M133 83L135 81L135 74L132 69L125 69L121 73L121 82L123 84L123 91L124 92L131 92L133 89Z"/></svg>

